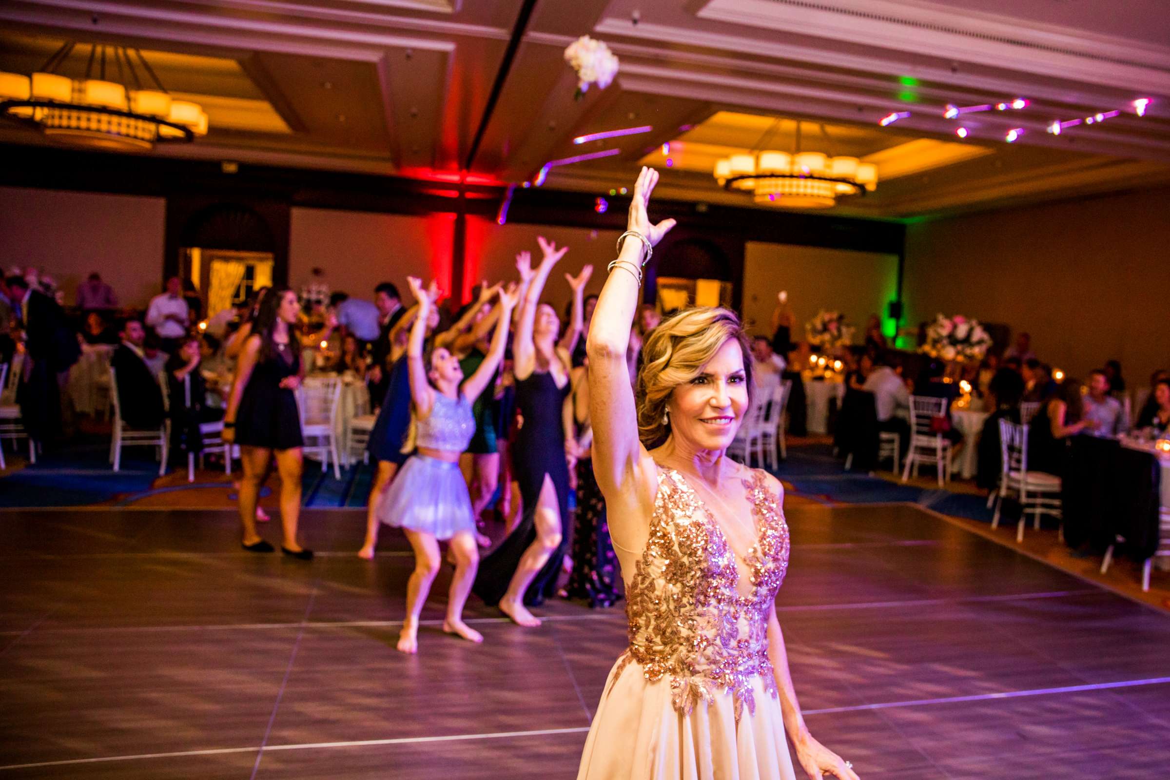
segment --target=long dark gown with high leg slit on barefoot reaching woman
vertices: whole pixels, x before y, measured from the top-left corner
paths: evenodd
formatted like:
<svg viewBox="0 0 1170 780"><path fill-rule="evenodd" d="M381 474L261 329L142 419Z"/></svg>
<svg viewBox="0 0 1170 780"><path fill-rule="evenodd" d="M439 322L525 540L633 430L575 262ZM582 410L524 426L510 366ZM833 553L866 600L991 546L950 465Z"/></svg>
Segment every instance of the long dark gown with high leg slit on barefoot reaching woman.
<svg viewBox="0 0 1170 780"><path fill-rule="evenodd" d="M524 551L536 539L536 504L545 475L557 492L560 510L560 545L549 555L524 592L524 603L536 606L556 593L557 579L569 544L569 464L560 409L570 384L557 387L549 372L534 372L516 381L516 406L523 424L511 442L512 476L519 483L524 516L498 547L480 561L474 592L489 606L500 603Z"/></svg>

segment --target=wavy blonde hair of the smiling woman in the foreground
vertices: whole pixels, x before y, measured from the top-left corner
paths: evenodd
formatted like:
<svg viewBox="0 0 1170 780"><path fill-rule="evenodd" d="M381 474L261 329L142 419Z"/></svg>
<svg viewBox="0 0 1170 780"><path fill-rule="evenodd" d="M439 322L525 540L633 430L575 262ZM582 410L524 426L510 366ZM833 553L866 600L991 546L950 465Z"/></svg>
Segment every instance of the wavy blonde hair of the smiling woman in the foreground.
<svg viewBox="0 0 1170 780"><path fill-rule="evenodd" d="M670 434L670 423L662 419L674 388L697 377L728 339L737 341L743 353L750 409L755 395L751 343L734 311L715 306L687 309L651 331L642 345L635 392L638 436L647 449L659 447Z"/></svg>

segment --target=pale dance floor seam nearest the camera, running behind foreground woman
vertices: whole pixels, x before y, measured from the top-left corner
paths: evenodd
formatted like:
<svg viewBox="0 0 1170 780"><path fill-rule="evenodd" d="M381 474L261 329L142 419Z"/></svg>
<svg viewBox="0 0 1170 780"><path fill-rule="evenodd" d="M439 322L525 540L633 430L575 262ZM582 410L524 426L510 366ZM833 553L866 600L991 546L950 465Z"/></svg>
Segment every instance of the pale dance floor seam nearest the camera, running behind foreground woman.
<svg viewBox="0 0 1170 780"><path fill-rule="evenodd" d="M294 651L295 657L295 651ZM291 661L290 661L291 668ZM969 702L992 702L999 699L1012 699L1023 698L1031 696L1054 696L1060 693L1082 693L1088 691L1102 691L1102 690L1114 690L1119 688L1136 688L1141 685L1165 685L1170 684L1170 677L1151 677L1147 679L1122 679L1112 683L1092 683L1086 685L1065 685L1060 688L1038 688L1019 691L1000 691L997 693L975 693L971 696L950 696L943 698L932 699L908 699L903 702L876 702L873 704L854 704L849 706L835 706L835 707L823 707L813 710L804 710L803 715L834 715L841 712L862 712L867 710L889 710L894 707L910 707L910 706L930 706L936 704L963 704ZM282 686L283 688L283 686ZM278 706L278 703L277 703ZM275 712L275 707L274 707ZM438 734L433 737L397 737L388 739L363 739L353 741L333 741L333 743L296 743L296 744L284 744L284 745L262 745L260 747L221 747L221 748L208 748L198 751L177 751L172 753L142 753L135 755L103 755L96 758L81 758L81 759L66 759L61 761L41 761L35 764L11 764L7 766L0 766L0 772L11 769L30 769L39 767L50 767L50 766L69 766L77 764L97 764L105 761L133 761L133 760L146 760L157 758L184 758L184 757L195 757L195 755L222 755L228 753L248 753L250 751L259 751L260 754L256 755L256 767L260 766L260 759L264 751L297 751L297 750L326 750L335 747L372 747L380 745L408 745L408 744L425 744L425 743L442 743L442 741L460 741L469 739L508 739L512 737L546 737L557 734L579 734L585 733L590 730L589 726L576 726L569 729L539 729L534 731L504 731L504 732L493 732L482 734ZM268 734L264 734L267 740ZM253 773L255 776L255 773Z"/></svg>

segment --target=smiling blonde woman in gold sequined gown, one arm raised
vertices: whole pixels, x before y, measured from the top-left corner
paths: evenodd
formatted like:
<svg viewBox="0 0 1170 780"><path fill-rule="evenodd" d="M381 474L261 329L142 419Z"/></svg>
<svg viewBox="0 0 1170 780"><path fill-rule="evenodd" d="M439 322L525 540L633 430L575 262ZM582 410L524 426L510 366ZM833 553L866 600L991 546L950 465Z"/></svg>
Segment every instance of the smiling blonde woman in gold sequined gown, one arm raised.
<svg viewBox="0 0 1170 780"><path fill-rule="evenodd" d="M641 267L674 220L646 214L642 168L589 334L593 470L626 581L629 647L610 672L578 780L858 780L808 733L776 593L789 561L783 488L725 456L751 403L735 313L691 309L626 346Z"/></svg>

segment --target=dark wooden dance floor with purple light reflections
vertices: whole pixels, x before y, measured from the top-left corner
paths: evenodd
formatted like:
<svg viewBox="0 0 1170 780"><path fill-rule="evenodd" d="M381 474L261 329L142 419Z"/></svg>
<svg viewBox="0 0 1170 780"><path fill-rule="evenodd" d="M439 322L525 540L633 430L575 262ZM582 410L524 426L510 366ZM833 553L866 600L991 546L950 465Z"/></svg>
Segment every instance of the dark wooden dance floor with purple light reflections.
<svg viewBox="0 0 1170 780"><path fill-rule="evenodd" d="M866 780L1164 778L1170 617L910 505L794 506L779 617L814 736ZM312 564L225 511L5 512L0 779L573 778L619 609L394 651L410 553L308 511ZM275 523L264 530L278 540Z"/></svg>

